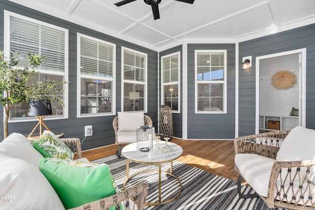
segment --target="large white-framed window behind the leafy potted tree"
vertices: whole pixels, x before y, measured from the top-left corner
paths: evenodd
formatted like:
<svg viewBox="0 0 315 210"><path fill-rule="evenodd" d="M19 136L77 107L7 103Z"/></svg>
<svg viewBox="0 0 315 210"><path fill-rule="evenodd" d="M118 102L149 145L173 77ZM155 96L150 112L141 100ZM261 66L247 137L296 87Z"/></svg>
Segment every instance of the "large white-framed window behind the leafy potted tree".
<svg viewBox="0 0 315 210"><path fill-rule="evenodd" d="M22 58L29 52L47 57L36 70L38 80L51 79L68 80L68 30L50 25L32 18L5 11L4 51L9 56L10 51L20 53L20 65L27 64ZM67 85L63 98L67 98ZM63 119L68 117L68 105L52 102L53 115L47 118ZM29 103L16 104L10 111L10 121L33 120L27 117Z"/></svg>

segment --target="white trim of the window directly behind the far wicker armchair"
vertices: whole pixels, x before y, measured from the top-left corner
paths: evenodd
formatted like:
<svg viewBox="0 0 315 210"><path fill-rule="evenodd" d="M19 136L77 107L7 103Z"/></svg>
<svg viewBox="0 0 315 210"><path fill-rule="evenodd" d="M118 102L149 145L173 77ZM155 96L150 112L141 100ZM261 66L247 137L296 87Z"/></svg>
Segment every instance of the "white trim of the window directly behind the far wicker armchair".
<svg viewBox="0 0 315 210"><path fill-rule="evenodd" d="M143 56L145 56L146 58L146 62L145 62L145 82L139 82L139 81L132 81L132 80L125 80L124 79L124 50L130 51L130 52L134 52L134 53L138 53L141 54ZM136 51L130 48L126 48L122 46L122 67L121 67L121 76L122 76L122 85L121 85L121 110L122 112L124 112L124 88L125 88L125 83L132 83L132 84L140 84L140 85L144 85L144 110L141 111L130 111L130 112L144 112L147 113L148 110L148 54L146 53L142 53L140 51ZM129 111L128 111L129 112Z"/></svg>

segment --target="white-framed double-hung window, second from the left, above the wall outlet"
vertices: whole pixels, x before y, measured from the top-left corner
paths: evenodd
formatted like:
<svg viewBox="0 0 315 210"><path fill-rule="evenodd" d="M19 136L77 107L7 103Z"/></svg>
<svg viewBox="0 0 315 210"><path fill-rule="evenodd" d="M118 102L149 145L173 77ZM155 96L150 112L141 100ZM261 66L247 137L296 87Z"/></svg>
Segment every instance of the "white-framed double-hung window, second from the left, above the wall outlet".
<svg viewBox="0 0 315 210"><path fill-rule="evenodd" d="M116 45L78 33L78 117L113 115Z"/></svg>

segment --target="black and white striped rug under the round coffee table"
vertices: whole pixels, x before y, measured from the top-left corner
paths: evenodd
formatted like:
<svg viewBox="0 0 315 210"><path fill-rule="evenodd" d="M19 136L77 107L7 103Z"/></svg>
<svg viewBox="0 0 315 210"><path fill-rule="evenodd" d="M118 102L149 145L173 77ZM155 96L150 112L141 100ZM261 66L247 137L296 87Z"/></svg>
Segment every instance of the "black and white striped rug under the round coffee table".
<svg viewBox="0 0 315 210"><path fill-rule="evenodd" d="M106 163L117 185L122 189L126 180L126 158L116 155L104 157L94 163ZM162 170L169 172L169 163L162 164ZM143 170L158 169L158 165L129 162L129 175ZM260 198L240 199L237 184L233 180L205 172L179 161L173 161L173 174L182 181L180 196L169 204L147 207L146 210L262 210L264 202ZM162 200L166 200L179 190L178 182L171 176L162 174ZM158 202L158 173L144 173L134 177L130 183L147 182L149 192L147 202ZM253 193L249 186L242 186L245 193ZM175 193L175 194L174 194Z"/></svg>

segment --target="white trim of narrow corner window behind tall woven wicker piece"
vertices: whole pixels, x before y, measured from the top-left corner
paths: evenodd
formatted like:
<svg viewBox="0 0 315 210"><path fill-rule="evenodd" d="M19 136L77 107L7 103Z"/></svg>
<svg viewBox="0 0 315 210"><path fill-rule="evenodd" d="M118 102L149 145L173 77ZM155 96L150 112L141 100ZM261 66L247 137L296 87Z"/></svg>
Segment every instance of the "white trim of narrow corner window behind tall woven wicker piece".
<svg viewBox="0 0 315 210"><path fill-rule="evenodd" d="M171 56L178 55L178 81L163 83L163 59ZM181 52L168 54L161 57L161 104L164 104L164 86L166 85L178 85L178 110L172 110L172 113L181 113Z"/></svg>

